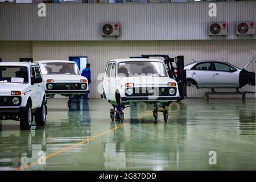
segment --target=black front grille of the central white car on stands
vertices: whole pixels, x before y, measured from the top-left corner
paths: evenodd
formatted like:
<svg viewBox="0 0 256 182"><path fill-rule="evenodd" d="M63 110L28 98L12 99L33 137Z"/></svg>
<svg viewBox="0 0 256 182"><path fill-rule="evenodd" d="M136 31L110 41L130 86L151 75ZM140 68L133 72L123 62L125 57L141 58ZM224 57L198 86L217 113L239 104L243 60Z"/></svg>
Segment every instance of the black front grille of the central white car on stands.
<svg viewBox="0 0 256 182"><path fill-rule="evenodd" d="M156 88L147 88L147 87L139 87L139 88L133 88L133 94L131 94L132 97L140 96L140 97L145 97L145 96L171 96L169 94L169 89L174 88L175 89L175 94L176 95L176 88L175 87L156 87ZM128 88L126 88L127 90ZM154 94L148 93L148 90L154 89ZM129 95L126 93L125 90L125 96L129 97ZM158 93L157 93L158 91ZM131 97L130 96L130 97Z"/></svg>

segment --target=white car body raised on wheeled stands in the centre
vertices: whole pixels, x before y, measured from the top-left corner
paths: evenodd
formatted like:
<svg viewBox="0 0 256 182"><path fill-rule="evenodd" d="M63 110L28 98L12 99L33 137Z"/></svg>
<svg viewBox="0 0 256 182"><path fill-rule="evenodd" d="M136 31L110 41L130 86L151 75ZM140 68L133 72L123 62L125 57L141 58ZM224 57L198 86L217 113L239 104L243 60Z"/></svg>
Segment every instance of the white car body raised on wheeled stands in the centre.
<svg viewBox="0 0 256 182"><path fill-rule="evenodd" d="M127 62L156 62L156 64L163 64L163 71L166 72L165 76L148 76L148 75L136 75L129 77L120 77L118 73L119 64L126 64ZM113 67L108 76L108 68ZM129 73L130 74L130 73ZM126 84L131 83L131 86ZM174 83L175 86L168 86L168 83ZM133 89L133 94L130 96L127 94L127 89ZM142 88L139 90L139 88ZM146 89L145 89L146 88ZM154 88L154 89L153 89ZM163 92L162 92L162 88ZM170 95L168 90L170 88L175 89L175 94ZM149 94L149 92L154 93ZM165 93L165 94L164 94ZM108 100L113 105L129 105L131 102L151 102L151 103L166 103L171 101L179 101L179 90L177 88L177 82L168 77L167 69L162 60L158 59L116 59L108 61L106 66L104 81L102 84L101 97Z"/></svg>

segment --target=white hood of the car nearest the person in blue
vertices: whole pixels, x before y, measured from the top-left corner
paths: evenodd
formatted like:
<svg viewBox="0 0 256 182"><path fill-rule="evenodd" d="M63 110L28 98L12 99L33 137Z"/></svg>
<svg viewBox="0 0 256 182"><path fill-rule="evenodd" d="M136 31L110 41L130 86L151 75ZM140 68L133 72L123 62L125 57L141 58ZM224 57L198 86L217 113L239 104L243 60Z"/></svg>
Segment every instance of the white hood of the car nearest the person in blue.
<svg viewBox="0 0 256 182"><path fill-rule="evenodd" d="M47 79L52 79L55 81L65 81L65 82L71 82L71 81L80 81L81 79L86 79L84 76L81 75L43 75L44 81Z"/></svg>

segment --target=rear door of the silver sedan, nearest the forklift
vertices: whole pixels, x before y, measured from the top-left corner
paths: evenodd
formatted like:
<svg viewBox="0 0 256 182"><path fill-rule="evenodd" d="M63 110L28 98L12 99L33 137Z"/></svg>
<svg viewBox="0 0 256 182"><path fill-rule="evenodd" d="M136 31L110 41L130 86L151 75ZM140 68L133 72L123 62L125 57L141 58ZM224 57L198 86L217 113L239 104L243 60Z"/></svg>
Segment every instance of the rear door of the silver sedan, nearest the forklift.
<svg viewBox="0 0 256 182"><path fill-rule="evenodd" d="M199 88L213 86L213 69L210 62L197 63L188 74L196 81Z"/></svg>

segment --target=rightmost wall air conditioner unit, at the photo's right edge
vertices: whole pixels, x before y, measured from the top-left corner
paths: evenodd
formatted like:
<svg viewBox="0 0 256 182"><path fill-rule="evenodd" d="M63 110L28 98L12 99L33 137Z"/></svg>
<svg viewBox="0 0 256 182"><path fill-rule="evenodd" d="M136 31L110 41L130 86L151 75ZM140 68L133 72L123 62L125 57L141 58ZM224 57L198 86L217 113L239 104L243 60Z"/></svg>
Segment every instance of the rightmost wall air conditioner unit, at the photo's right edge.
<svg viewBox="0 0 256 182"><path fill-rule="evenodd" d="M255 22L237 22L237 35L255 35Z"/></svg>

